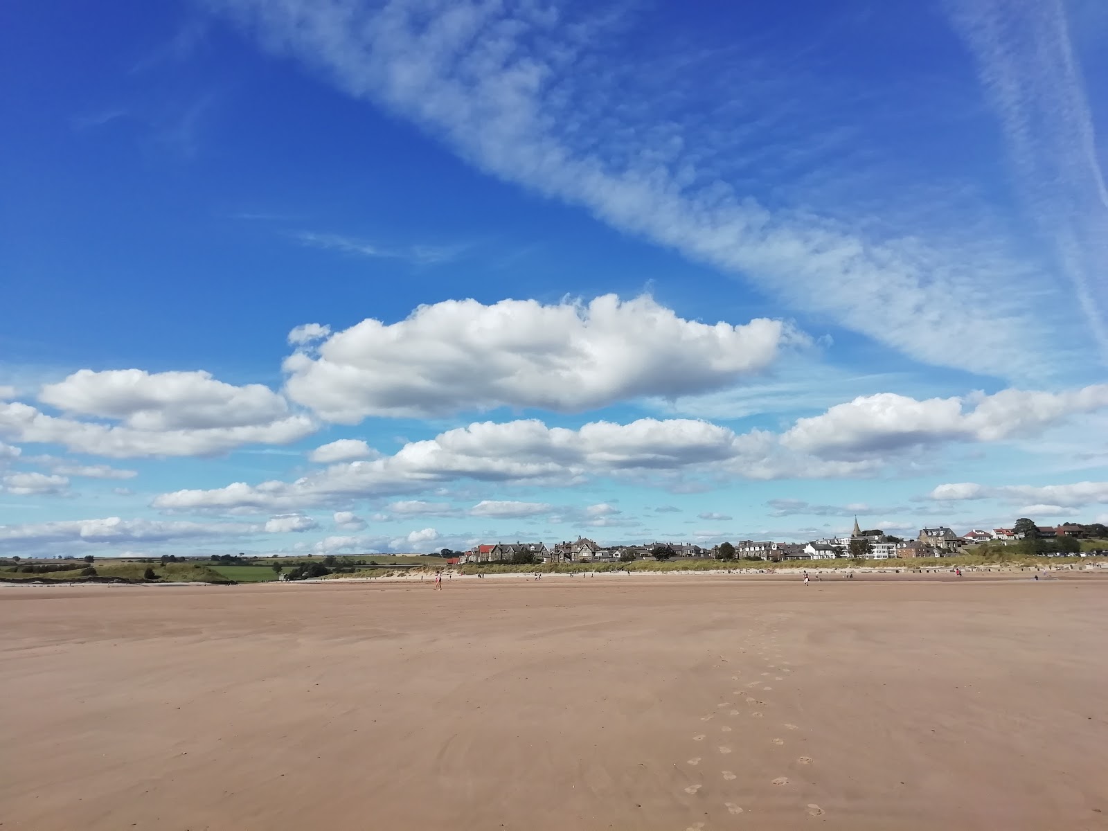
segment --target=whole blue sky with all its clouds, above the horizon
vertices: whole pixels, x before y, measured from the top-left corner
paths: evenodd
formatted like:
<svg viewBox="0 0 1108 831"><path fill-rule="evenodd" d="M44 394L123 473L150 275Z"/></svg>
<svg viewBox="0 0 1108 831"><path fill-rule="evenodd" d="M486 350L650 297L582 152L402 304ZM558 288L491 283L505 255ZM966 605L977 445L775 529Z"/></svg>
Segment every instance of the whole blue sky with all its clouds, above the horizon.
<svg viewBox="0 0 1108 831"><path fill-rule="evenodd" d="M0 551L1108 516L1100 3L3 19Z"/></svg>

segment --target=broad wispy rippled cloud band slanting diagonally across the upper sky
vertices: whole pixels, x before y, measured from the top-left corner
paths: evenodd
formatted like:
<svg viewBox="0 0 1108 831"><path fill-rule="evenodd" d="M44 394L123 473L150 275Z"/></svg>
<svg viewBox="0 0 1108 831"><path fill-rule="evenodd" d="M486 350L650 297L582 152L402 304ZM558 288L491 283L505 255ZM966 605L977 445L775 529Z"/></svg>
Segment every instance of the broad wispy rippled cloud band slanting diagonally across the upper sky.
<svg viewBox="0 0 1108 831"><path fill-rule="evenodd" d="M769 102L755 98L757 91L772 90L767 94L783 111L777 99L787 86L786 73L796 70L792 61L752 58L738 70L748 100L730 94L730 107L707 116L689 107L699 114L694 117L666 109L666 101L702 100L705 79L733 80L735 66L674 72L655 88L649 80L658 78L660 55L652 52L649 65L606 65L603 50L611 49L615 33L572 21L568 10L475 0L396 0L375 8L307 0L222 6L267 47L321 69L351 95L410 119L493 176L740 274L787 302L916 359L1001 376L1045 363L1050 345L1036 337L1039 309L1017 298L1049 290L1050 283L1022 264L1014 244L971 243L953 228L882 233L868 227L876 224L868 216L851 229L841 216L815 215L802 198L791 209L771 208L732 184L742 176L728 173L753 166L767 152L759 143L742 148L751 158L736 157L743 133L761 132L751 124L766 121L760 107ZM670 58L675 64L689 59ZM726 81L720 86L733 93ZM808 94L814 99L790 102L790 121L802 117L807 104L819 103L821 92ZM829 115L833 104L820 114ZM793 129L810 140L814 131L808 129L819 117ZM1014 284L1027 290L1013 293ZM987 327L972 315L948 314L979 308L984 298ZM971 342L974 348L965 348ZM338 402L328 403L340 410Z"/></svg>

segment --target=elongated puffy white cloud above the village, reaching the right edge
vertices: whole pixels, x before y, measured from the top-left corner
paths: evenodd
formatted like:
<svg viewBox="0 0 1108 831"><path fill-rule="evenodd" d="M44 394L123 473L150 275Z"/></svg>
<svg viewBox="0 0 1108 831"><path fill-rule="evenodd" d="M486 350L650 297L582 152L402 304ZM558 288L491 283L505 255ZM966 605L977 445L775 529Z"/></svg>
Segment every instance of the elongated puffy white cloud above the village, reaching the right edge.
<svg viewBox="0 0 1108 831"><path fill-rule="evenodd" d="M966 406L972 409L966 410ZM781 443L835 458L950 440L999 441L1032 435L1068 416L1104 408L1108 408L1108 384L1068 392L1009 389L992 396L925 401L881 392L799 419L781 437Z"/></svg>

